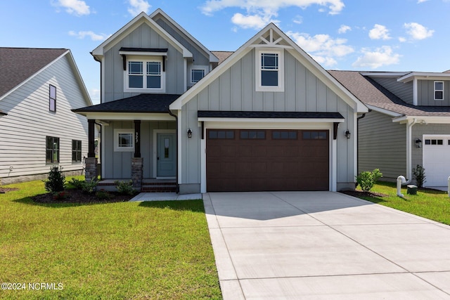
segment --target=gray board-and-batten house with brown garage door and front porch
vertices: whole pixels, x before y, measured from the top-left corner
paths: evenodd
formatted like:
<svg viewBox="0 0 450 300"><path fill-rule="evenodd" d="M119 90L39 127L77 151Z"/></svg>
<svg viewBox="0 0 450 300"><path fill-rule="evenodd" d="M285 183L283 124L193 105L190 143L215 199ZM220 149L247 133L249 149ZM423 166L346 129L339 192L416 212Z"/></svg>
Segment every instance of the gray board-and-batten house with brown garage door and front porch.
<svg viewBox="0 0 450 300"><path fill-rule="evenodd" d="M173 181L179 193L354 188L356 119L368 112L358 98L274 24L215 53L160 9L94 49L101 104L74 111L89 129L103 124L104 181Z"/></svg>

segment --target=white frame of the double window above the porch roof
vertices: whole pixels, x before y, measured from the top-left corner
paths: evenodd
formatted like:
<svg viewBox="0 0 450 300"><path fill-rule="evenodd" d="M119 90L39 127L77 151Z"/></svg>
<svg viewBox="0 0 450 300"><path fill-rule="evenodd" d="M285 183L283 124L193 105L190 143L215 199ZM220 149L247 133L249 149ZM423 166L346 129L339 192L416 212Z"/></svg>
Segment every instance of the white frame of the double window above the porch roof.
<svg viewBox="0 0 450 300"><path fill-rule="evenodd" d="M131 93L165 93L166 92L166 72L163 70L164 62L162 61L162 56L127 56L127 69L124 70L124 91ZM142 88L129 88L129 62L140 62L142 63ZM147 63L160 63L161 64L161 88L160 89L148 89L147 88Z"/></svg>

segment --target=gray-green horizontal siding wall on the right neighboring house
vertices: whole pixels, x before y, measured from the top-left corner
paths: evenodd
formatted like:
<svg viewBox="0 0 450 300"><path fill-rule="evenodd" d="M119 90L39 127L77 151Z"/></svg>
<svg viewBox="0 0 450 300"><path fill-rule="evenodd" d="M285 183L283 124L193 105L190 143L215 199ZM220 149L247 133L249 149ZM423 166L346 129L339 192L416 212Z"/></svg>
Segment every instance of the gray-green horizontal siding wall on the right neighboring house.
<svg viewBox="0 0 450 300"><path fill-rule="evenodd" d="M361 171L380 169L381 180L394 181L406 174L406 125L392 117L368 112L359 120L359 166Z"/></svg>

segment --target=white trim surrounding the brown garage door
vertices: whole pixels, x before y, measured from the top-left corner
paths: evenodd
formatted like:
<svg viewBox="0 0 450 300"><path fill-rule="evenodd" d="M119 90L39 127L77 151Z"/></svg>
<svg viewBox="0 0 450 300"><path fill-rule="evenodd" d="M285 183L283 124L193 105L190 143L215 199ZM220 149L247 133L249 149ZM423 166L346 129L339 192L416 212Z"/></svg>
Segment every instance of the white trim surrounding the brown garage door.
<svg viewBox="0 0 450 300"><path fill-rule="evenodd" d="M273 119L272 119L273 120ZM329 137L329 167L328 167L328 183L329 190L336 191L337 185L337 141L333 140L333 123L332 122L296 122L285 123L278 122L216 122L206 121L204 123L203 140L200 140L200 193L207 193L206 182L206 148L207 148L207 129L327 129Z"/></svg>

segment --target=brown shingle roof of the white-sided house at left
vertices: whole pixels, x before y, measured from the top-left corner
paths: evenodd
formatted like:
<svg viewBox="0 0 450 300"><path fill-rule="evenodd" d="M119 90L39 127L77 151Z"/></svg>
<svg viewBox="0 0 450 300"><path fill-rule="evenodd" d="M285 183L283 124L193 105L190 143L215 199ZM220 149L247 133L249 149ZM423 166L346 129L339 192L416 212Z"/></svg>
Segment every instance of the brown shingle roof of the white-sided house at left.
<svg viewBox="0 0 450 300"><path fill-rule="evenodd" d="M0 47L0 96L49 65L68 49Z"/></svg>

